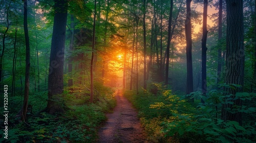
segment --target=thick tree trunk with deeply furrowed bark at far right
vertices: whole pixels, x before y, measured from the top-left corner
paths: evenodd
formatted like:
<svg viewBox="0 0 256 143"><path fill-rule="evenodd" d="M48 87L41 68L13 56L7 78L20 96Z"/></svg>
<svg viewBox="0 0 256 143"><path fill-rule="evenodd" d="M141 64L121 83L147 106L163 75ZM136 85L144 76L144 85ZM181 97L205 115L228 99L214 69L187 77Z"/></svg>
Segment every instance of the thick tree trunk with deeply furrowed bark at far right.
<svg viewBox="0 0 256 143"><path fill-rule="evenodd" d="M227 45L226 45L226 84L244 84L244 25L243 1L226 0L227 4ZM232 86L232 85L230 85ZM227 109L237 109L242 106L242 101L236 98L236 92L241 92L242 87L225 88L224 96L232 98L233 104L222 105L221 119L236 121L242 125L242 113L231 112ZM227 97L230 96L231 97Z"/></svg>

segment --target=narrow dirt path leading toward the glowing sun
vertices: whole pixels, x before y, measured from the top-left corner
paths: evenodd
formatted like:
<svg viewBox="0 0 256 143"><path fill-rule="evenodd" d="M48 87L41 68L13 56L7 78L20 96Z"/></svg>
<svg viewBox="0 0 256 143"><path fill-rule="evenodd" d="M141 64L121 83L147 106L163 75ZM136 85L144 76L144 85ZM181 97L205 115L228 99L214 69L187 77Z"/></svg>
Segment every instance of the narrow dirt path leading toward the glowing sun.
<svg viewBox="0 0 256 143"><path fill-rule="evenodd" d="M99 129L99 142L148 142L136 110L120 91L116 96L117 106L108 113L108 121Z"/></svg>

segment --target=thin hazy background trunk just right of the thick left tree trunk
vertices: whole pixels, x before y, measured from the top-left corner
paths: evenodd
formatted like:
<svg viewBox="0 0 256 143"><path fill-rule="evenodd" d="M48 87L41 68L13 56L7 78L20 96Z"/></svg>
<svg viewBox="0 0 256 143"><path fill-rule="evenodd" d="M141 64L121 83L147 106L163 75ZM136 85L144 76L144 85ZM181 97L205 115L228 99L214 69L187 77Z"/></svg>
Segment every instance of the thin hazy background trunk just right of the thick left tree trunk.
<svg viewBox="0 0 256 143"><path fill-rule="evenodd" d="M70 44L69 44L69 52L70 52L70 57L69 57L69 81L68 81L68 86L69 90L73 91L73 76L72 76L72 69L73 69L73 57L71 56L71 53L73 51L73 46L74 46L74 16L73 14L70 15L70 28L71 28L71 36L70 36Z"/></svg>

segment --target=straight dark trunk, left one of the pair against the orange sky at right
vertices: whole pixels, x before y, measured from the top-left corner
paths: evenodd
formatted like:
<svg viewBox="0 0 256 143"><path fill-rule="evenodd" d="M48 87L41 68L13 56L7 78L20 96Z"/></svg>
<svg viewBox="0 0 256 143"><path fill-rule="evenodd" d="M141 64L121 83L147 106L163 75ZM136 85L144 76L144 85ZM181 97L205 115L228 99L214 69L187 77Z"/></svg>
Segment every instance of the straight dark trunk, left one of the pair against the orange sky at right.
<svg viewBox="0 0 256 143"><path fill-rule="evenodd" d="M186 20L185 20L185 35L186 35L186 60L187 60L187 82L186 94L193 92L193 65L192 65L192 37L191 37L191 0L186 0Z"/></svg>

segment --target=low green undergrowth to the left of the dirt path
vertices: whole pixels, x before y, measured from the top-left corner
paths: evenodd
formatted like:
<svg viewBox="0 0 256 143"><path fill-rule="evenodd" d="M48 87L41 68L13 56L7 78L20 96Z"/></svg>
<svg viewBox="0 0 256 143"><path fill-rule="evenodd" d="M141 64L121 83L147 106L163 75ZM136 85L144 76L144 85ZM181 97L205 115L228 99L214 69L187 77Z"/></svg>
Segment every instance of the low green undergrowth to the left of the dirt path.
<svg viewBox="0 0 256 143"><path fill-rule="evenodd" d="M12 114L9 114L8 139L1 138L0 142L96 142L99 125L106 120L104 113L110 112L115 106L114 92L110 88L101 87L101 90L95 91L93 104L89 104L87 92L66 91L63 94L63 102L67 103L69 109L63 114L50 115L35 110L28 113L26 122L20 122L15 118L17 111L10 111ZM30 103L38 97L35 98L31 96ZM18 102L12 102L15 101ZM46 106L40 102L34 104L33 108L42 108L37 105ZM2 129L1 136L3 133Z"/></svg>

